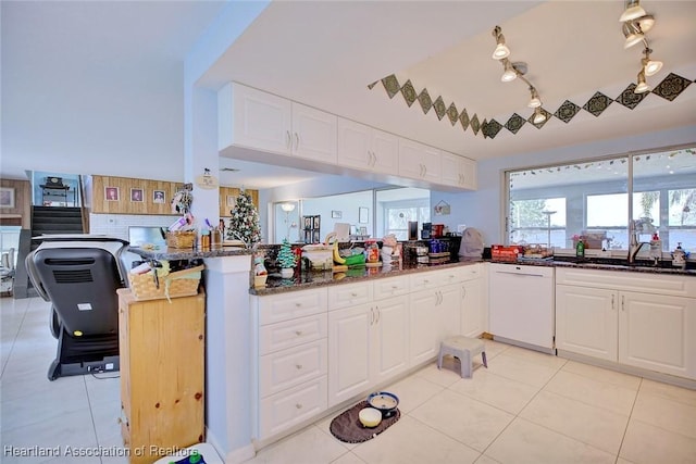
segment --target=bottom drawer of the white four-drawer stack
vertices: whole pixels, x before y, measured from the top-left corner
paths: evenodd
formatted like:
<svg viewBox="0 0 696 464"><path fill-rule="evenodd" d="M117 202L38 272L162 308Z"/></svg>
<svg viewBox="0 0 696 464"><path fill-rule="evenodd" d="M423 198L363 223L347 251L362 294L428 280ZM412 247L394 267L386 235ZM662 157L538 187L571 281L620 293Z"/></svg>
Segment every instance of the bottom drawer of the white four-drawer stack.
<svg viewBox="0 0 696 464"><path fill-rule="evenodd" d="M326 376L261 400L259 435L276 435L326 410Z"/></svg>

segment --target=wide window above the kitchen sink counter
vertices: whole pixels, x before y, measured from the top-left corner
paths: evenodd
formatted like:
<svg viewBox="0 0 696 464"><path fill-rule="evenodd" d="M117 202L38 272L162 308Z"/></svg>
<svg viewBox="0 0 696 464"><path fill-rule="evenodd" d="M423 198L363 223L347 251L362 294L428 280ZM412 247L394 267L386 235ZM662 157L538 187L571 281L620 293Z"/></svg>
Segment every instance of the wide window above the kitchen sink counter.
<svg viewBox="0 0 696 464"><path fill-rule="evenodd" d="M639 240L647 241L657 231L663 251L674 250L678 242L696 251L696 149L692 147L506 175L510 243L570 248L574 236L585 235L594 239L593 248L625 250L631 217L647 224ZM545 214L549 214L546 223Z"/></svg>

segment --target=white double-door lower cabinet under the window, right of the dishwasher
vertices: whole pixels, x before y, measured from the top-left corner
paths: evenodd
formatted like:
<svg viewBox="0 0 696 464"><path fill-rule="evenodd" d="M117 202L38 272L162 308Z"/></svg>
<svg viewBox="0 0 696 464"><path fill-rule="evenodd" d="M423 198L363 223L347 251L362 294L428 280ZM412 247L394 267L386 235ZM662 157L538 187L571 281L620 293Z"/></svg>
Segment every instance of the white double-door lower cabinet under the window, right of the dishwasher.
<svg viewBox="0 0 696 464"><path fill-rule="evenodd" d="M557 269L556 347L696 378L696 279L626 274Z"/></svg>

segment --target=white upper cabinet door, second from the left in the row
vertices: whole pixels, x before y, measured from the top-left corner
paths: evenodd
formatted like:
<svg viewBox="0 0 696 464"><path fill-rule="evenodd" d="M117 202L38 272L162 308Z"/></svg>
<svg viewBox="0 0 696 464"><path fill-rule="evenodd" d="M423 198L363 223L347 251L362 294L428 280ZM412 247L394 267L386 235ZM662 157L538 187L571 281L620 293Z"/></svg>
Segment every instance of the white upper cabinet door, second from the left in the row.
<svg viewBox="0 0 696 464"><path fill-rule="evenodd" d="M293 103L293 154L336 164L336 125L335 115Z"/></svg>

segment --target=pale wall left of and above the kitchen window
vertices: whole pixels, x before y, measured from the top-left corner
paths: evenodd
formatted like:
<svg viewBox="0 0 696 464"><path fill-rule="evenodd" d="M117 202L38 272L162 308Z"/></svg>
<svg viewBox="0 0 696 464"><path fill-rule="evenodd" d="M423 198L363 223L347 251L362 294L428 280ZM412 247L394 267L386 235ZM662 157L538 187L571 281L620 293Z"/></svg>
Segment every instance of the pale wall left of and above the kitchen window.
<svg viewBox="0 0 696 464"><path fill-rule="evenodd" d="M495 143L495 140L490 140L490 143ZM457 230L458 224L465 224L482 231L486 246L504 243L505 230L501 211L504 209L505 170L563 163L686 143L696 145L696 126L684 126L631 138L602 140L536 153L496 158L478 163L478 189L476 191L463 193L432 191L431 206L440 200L445 200L451 205L449 216L438 216L438 222L449 226L450 230Z"/></svg>

